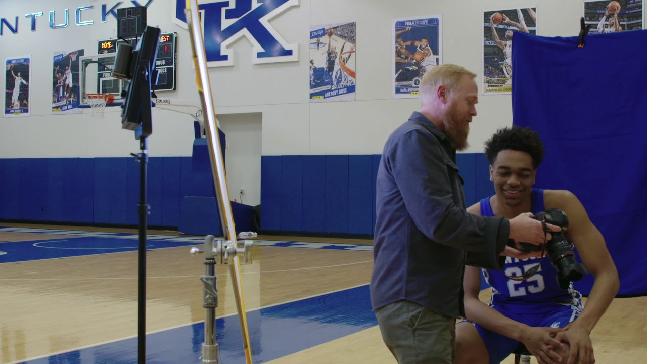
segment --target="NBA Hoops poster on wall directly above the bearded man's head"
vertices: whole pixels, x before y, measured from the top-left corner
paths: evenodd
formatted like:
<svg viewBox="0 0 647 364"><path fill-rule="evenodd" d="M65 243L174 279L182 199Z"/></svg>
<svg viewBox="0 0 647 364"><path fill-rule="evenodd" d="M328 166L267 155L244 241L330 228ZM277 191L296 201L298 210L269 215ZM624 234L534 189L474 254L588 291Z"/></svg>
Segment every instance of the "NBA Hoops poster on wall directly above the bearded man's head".
<svg viewBox="0 0 647 364"><path fill-rule="evenodd" d="M440 15L393 20L393 98L418 97L422 75L443 62L442 21Z"/></svg>

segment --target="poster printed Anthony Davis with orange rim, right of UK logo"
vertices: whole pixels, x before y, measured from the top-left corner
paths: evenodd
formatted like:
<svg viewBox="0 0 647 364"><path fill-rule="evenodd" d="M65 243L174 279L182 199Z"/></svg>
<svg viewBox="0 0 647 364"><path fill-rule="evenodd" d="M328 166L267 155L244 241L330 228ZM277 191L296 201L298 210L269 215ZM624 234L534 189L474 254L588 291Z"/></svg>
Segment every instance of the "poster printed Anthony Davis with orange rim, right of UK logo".
<svg viewBox="0 0 647 364"><path fill-rule="evenodd" d="M310 29L310 102L355 100L356 23Z"/></svg>

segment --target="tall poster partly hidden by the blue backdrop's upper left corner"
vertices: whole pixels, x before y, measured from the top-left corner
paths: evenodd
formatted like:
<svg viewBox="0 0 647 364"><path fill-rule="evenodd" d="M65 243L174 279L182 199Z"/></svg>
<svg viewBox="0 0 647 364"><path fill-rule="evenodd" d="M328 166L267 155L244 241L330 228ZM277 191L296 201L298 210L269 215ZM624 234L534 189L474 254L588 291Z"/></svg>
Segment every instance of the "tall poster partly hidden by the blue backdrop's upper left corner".
<svg viewBox="0 0 647 364"><path fill-rule="evenodd" d="M512 36L537 34L537 8L483 12L483 93L512 92Z"/></svg>

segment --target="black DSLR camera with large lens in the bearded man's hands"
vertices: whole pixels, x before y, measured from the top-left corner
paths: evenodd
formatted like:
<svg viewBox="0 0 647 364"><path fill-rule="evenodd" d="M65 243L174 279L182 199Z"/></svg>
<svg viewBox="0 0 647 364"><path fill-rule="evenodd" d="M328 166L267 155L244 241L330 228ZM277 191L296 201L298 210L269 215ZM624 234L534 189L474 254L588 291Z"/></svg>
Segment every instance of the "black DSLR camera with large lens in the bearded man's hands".
<svg viewBox="0 0 647 364"><path fill-rule="evenodd" d="M557 270L557 282L566 290L571 280L580 280L588 272L586 268L575 261L573 244L568 242L564 237L564 232L568 228L568 218L564 211L559 209L548 209L544 212L535 214L534 218L540 222L546 222L562 228L562 231L550 231L553 238L546 242L546 250L551 259L551 263ZM520 251L540 251L542 245L532 245L529 243L519 243Z"/></svg>

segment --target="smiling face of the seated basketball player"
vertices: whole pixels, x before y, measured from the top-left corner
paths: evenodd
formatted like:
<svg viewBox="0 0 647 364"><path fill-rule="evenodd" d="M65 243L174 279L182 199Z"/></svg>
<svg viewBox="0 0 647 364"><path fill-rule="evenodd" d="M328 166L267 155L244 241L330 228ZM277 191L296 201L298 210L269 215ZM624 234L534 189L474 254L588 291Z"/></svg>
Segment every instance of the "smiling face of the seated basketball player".
<svg viewBox="0 0 647 364"><path fill-rule="evenodd" d="M510 207L530 198L536 173L531 155L518 150L501 150L490 166L496 196Z"/></svg>

